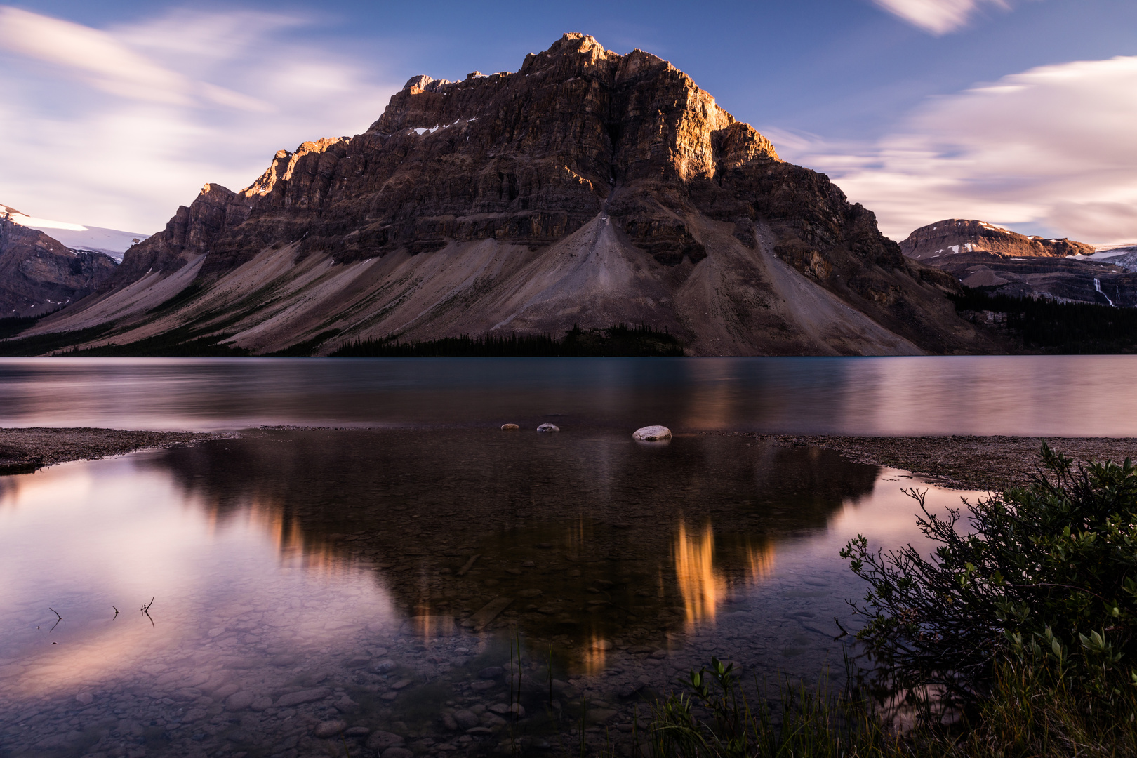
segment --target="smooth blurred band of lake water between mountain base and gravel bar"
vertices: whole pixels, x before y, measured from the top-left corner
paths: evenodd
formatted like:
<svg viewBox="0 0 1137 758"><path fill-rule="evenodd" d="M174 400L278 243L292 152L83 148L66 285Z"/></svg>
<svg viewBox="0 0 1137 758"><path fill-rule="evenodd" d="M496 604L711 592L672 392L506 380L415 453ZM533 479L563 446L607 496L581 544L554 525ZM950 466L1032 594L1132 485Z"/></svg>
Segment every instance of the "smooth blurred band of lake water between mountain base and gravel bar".
<svg viewBox="0 0 1137 758"><path fill-rule="evenodd" d="M0 359L0 425L1137 435L1132 356Z"/></svg>

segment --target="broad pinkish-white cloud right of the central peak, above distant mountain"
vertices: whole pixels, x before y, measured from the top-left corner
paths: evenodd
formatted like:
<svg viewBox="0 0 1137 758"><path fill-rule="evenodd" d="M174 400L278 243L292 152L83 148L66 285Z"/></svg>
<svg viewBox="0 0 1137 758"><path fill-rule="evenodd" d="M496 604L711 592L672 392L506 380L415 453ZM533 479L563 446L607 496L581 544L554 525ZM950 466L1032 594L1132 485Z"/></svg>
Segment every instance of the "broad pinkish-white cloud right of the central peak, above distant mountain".
<svg viewBox="0 0 1137 758"><path fill-rule="evenodd" d="M1137 57L1073 61L939 97L873 144L767 130L904 239L941 218L1137 240Z"/></svg>

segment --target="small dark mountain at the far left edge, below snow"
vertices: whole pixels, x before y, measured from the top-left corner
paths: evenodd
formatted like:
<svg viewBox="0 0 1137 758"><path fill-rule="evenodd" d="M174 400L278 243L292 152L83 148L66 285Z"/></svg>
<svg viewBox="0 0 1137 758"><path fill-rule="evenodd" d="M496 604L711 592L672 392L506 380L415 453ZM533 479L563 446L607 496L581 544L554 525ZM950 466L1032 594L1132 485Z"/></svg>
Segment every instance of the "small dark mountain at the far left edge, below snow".
<svg viewBox="0 0 1137 758"><path fill-rule="evenodd" d="M0 318L58 310L86 297L115 273L117 266L109 256L72 250L39 230L13 220L14 214L7 206L2 209Z"/></svg>

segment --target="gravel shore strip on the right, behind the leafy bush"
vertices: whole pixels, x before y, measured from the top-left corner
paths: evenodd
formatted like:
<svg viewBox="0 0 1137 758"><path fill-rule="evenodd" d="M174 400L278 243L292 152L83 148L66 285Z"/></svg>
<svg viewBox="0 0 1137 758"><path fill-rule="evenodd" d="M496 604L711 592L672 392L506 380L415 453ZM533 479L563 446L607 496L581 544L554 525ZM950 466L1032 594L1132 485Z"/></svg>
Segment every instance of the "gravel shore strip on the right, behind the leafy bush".
<svg viewBox="0 0 1137 758"><path fill-rule="evenodd" d="M828 448L860 464L904 468L957 490L1003 491L1029 484L1044 441L1076 461L1137 459L1135 438L746 436L781 447Z"/></svg>

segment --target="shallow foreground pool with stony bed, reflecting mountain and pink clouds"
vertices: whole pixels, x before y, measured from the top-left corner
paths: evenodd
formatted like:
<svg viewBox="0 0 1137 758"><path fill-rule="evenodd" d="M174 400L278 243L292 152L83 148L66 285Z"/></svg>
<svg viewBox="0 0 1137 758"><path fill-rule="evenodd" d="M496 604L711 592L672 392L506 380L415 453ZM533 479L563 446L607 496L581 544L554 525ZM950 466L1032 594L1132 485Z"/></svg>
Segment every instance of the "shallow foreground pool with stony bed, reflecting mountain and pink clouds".
<svg viewBox="0 0 1137 758"><path fill-rule="evenodd" d="M838 670L831 619L854 628L863 590L837 551L914 536L901 476L565 424L263 430L0 477L0 738L52 758L323 755L342 745L314 725L342 719L351 755L358 730L483 755L512 733L508 691L529 714L511 730L575 755L586 703L628 738L637 703L712 655L760 678ZM153 626L130 605L151 597ZM463 709L481 731L449 725Z"/></svg>

